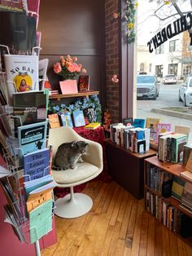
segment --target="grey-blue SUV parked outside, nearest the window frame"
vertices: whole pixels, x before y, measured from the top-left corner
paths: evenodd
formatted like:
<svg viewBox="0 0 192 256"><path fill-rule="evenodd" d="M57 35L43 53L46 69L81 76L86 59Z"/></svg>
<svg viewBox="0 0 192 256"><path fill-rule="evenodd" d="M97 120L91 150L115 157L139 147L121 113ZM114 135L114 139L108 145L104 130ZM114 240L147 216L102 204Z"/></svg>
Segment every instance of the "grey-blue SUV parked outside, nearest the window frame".
<svg viewBox="0 0 192 256"><path fill-rule="evenodd" d="M159 96L159 81L154 75L137 76L137 98L156 99Z"/></svg>

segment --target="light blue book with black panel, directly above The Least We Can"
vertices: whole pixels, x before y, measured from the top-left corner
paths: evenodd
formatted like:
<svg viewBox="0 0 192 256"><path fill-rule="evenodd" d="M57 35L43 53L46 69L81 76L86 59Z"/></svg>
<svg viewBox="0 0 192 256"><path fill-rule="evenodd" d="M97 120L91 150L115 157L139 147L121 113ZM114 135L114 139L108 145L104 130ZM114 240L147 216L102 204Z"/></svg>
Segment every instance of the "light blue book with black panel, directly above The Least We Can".
<svg viewBox="0 0 192 256"><path fill-rule="evenodd" d="M41 121L27 126L19 126L17 130L20 159L29 152L46 148L47 121Z"/></svg>

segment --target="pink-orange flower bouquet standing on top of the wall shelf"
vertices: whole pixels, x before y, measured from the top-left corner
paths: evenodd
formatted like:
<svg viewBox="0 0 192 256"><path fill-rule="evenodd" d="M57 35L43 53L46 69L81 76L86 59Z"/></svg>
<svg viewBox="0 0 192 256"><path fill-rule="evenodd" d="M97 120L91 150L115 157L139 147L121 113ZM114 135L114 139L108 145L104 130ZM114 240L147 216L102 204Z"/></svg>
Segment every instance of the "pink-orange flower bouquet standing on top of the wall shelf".
<svg viewBox="0 0 192 256"><path fill-rule="evenodd" d="M60 56L60 62L54 65L54 72L63 77L63 80L75 79L79 73L86 73L86 69L81 64L76 63L77 58L67 55L66 58Z"/></svg>

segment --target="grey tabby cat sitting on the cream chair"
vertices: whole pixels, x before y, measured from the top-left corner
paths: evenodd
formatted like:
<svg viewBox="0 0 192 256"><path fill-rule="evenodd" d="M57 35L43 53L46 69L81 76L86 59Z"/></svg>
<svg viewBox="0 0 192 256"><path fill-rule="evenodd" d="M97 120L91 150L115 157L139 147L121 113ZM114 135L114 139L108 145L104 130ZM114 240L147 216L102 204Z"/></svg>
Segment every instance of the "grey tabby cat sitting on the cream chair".
<svg viewBox="0 0 192 256"><path fill-rule="evenodd" d="M61 144L56 152L55 163L52 169L75 169L77 162L84 162L81 156L88 152L88 149L89 144L81 140Z"/></svg>

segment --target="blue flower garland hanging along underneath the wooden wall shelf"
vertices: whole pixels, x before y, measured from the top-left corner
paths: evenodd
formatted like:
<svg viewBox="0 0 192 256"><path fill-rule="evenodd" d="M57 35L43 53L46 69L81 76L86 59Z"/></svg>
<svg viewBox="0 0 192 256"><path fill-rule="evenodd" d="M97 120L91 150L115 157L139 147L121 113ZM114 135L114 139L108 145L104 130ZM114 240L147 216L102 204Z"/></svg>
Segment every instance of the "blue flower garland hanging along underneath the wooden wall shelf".
<svg viewBox="0 0 192 256"><path fill-rule="evenodd" d="M72 113L76 109L85 110L86 108L94 109L94 121L100 122L102 119L102 108L97 95L90 95L89 98L77 99L74 104L51 104L49 105L49 113L58 113L61 115L68 111ZM90 121L90 120L89 120Z"/></svg>

